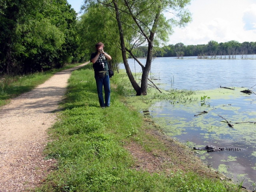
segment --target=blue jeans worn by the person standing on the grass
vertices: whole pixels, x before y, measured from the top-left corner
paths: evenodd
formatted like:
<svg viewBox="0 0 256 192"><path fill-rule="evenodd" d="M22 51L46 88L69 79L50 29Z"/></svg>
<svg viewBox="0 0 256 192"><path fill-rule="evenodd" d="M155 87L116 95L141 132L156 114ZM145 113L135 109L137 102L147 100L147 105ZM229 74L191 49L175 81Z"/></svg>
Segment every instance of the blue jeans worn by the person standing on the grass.
<svg viewBox="0 0 256 192"><path fill-rule="evenodd" d="M99 77L95 74L95 80L96 80L96 86L97 86L97 92L99 97L99 105L101 107L109 107L110 106L110 81L109 76L105 77ZM103 99L103 89L105 92L105 102Z"/></svg>

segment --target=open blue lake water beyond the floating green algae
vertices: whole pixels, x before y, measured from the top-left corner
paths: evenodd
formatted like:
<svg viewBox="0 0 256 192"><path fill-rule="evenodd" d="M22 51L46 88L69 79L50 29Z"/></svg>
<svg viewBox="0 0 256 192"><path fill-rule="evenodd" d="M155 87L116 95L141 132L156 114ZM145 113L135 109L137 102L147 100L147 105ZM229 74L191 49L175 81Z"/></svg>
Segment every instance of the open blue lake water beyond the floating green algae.
<svg viewBox="0 0 256 192"><path fill-rule="evenodd" d="M140 59L145 64L145 59ZM128 59L131 70L141 72L134 60ZM123 66L121 66L124 69ZM165 84L162 88L187 90L217 87L252 87L256 84L256 59L196 59L187 57L155 58L151 64L151 77Z"/></svg>

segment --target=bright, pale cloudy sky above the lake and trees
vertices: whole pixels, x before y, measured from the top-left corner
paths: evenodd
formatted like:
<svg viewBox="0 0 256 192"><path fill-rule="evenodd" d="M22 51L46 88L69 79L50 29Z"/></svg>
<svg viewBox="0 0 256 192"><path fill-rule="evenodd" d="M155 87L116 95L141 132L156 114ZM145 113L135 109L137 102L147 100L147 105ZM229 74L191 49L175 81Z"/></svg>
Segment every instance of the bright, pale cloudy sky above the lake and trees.
<svg viewBox="0 0 256 192"><path fill-rule="evenodd" d="M67 1L80 11L83 0ZM167 45L256 42L256 0L191 0L186 9L192 14L192 22L184 28L175 27Z"/></svg>

